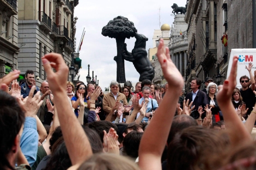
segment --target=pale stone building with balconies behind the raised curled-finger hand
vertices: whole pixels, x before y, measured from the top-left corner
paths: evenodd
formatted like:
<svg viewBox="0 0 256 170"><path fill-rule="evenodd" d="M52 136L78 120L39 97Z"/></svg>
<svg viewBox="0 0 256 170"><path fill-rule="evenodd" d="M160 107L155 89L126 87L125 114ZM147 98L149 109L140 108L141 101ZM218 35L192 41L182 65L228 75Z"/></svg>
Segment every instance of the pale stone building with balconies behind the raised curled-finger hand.
<svg viewBox="0 0 256 170"><path fill-rule="evenodd" d="M33 70L39 85L47 77L41 57L47 53L63 55L66 65L81 67L79 56L74 54L74 8L78 0L20 0L19 1L19 69L21 75ZM23 75L24 76L24 75Z"/></svg>

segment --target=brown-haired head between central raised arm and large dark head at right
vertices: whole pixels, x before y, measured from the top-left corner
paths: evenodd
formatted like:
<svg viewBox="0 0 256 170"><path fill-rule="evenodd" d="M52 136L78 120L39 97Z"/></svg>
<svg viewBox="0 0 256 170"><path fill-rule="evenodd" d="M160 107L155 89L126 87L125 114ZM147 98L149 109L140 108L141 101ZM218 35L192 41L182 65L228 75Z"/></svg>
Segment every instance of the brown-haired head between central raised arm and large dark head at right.
<svg viewBox="0 0 256 170"><path fill-rule="evenodd" d="M197 126L197 121L187 115L179 115L179 116L174 116L172 126L170 128L169 136L167 138L167 143L169 144L174 136L179 133L181 130L191 127L191 126Z"/></svg>

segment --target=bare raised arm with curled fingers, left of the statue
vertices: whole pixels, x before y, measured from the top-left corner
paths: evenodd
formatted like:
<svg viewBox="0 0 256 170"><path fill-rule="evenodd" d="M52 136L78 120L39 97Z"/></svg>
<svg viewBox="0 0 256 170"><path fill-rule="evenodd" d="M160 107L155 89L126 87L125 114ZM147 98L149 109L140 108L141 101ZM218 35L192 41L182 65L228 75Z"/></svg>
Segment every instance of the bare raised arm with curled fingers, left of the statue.
<svg viewBox="0 0 256 170"><path fill-rule="evenodd" d="M59 122L70 160L72 165L81 165L93 153L88 138L72 111L68 98L66 98L66 81L69 68L66 66L62 55L56 53L43 56L42 63L47 73L49 86L54 95L54 106L56 106L58 111ZM52 68L56 70L55 73Z"/></svg>

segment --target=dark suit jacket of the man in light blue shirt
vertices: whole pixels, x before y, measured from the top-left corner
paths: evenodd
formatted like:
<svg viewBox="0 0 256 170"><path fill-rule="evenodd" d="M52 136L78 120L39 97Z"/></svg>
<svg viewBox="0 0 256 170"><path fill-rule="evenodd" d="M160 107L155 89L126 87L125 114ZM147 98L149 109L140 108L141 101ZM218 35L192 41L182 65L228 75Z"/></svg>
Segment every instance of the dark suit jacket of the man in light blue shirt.
<svg viewBox="0 0 256 170"><path fill-rule="evenodd" d="M189 104L192 101L192 92L187 93L186 95L186 101L187 99L190 99ZM196 98L194 98L193 105L195 105L194 110L191 112L191 115L194 119L199 118L198 108L199 106L206 106L208 104L208 97L206 96L205 92L198 90Z"/></svg>

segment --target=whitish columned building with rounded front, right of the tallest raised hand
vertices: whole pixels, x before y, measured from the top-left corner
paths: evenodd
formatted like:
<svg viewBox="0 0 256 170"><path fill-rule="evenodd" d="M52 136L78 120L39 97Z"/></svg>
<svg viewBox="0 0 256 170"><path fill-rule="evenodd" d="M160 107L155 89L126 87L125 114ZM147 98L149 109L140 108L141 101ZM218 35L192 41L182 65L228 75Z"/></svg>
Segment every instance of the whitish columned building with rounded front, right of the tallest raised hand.
<svg viewBox="0 0 256 170"><path fill-rule="evenodd" d="M175 66L180 71L185 80L187 66L187 23L184 21L185 15L178 14L174 17L172 28L170 29L170 41L168 44L170 55Z"/></svg>

